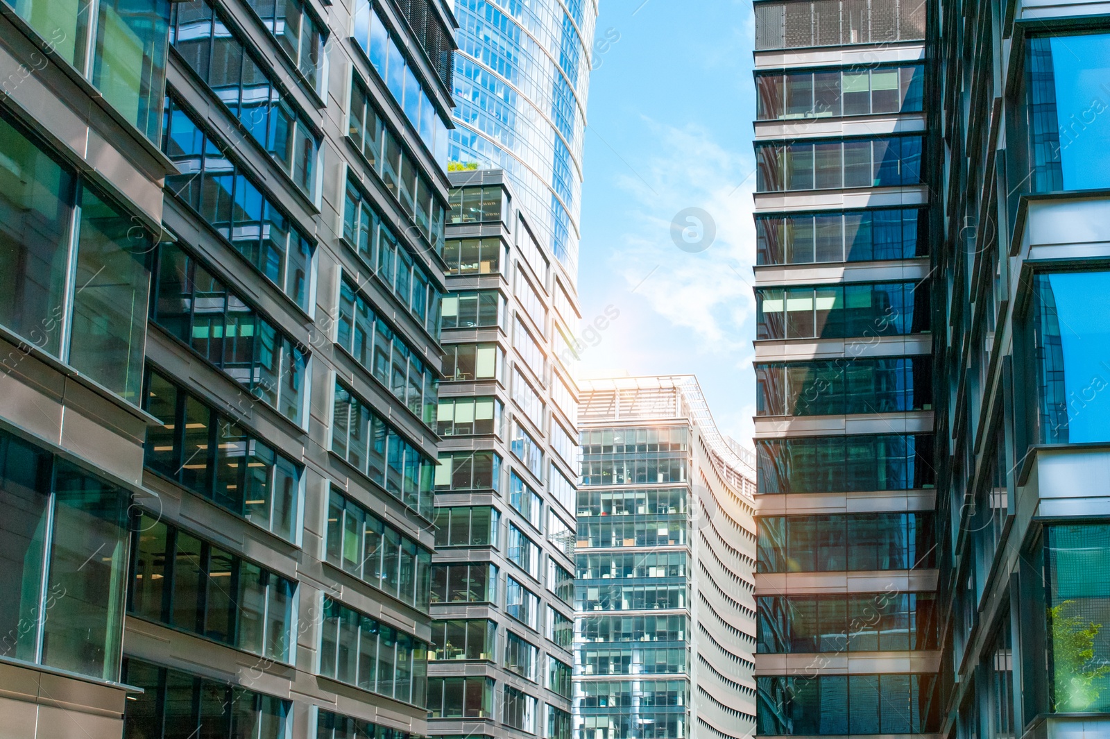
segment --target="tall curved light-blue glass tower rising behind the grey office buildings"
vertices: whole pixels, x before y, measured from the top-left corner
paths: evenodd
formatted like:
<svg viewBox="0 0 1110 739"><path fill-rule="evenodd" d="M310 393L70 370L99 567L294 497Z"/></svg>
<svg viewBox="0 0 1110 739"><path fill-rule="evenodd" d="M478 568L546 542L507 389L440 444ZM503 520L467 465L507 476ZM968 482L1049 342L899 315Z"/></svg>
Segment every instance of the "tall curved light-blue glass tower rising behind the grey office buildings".
<svg viewBox="0 0 1110 739"><path fill-rule="evenodd" d="M508 173L542 241L576 273L596 0L455 0L450 160Z"/></svg>

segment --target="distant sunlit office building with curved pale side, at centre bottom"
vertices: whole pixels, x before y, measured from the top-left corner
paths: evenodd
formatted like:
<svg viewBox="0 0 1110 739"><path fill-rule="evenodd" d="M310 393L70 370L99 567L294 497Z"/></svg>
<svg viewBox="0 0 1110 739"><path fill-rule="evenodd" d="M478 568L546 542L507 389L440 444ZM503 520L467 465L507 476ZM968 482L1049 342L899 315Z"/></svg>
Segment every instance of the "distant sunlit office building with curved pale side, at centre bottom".
<svg viewBox="0 0 1110 739"><path fill-rule="evenodd" d="M582 383L575 739L741 739L756 720L751 454L693 375Z"/></svg>

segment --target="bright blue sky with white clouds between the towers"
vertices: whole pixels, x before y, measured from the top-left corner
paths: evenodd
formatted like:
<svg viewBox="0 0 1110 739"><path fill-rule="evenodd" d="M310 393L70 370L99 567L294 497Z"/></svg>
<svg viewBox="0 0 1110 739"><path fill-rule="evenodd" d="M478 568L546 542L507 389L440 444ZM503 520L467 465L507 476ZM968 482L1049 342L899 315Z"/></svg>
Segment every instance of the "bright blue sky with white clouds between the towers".
<svg viewBox="0 0 1110 739"><path fill-rule="evenodd" d="M750 0L601 0L578 266L578 376L696 374L748 447L753 39Z"/></svg>

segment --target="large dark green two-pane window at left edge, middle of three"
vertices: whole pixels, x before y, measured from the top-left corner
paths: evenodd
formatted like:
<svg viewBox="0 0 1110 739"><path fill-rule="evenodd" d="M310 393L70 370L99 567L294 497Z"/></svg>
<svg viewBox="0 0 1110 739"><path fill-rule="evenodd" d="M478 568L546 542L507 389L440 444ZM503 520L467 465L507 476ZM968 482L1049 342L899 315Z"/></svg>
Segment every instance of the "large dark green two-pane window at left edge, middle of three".
<svg viewBox="0 0 1110 739"><path fill-rule="evenodd" d="M135 403L150 234L6 118L0 158L0 323Z"/></svg>

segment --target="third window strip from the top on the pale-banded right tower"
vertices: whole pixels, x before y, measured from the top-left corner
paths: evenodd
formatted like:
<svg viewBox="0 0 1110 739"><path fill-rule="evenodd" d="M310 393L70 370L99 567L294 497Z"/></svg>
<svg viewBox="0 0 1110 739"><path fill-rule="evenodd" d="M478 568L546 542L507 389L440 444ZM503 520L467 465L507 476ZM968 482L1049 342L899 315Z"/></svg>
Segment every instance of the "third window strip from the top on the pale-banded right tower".
<svg viewBox="0 0 1110 739"><path fill-rule="evenodd" d="M928 256L924 214L922 209L911 207L757 215L756 263L871 262Z"/></svg>

